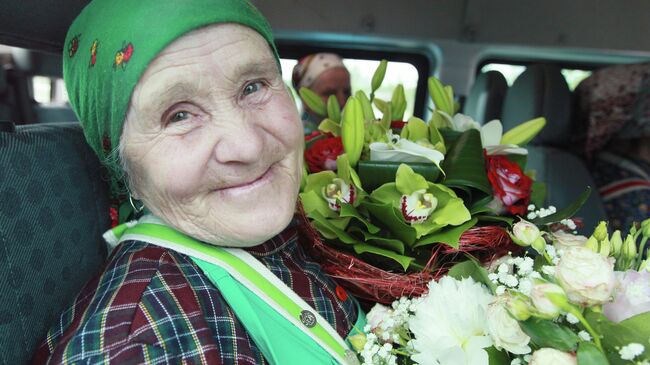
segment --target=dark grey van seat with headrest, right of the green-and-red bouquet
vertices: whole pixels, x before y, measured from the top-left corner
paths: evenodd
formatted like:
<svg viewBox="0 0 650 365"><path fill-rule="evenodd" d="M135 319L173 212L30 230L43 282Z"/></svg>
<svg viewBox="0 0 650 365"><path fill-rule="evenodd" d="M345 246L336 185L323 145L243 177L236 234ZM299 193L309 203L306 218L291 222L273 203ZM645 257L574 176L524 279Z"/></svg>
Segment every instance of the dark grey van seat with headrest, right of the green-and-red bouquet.
<svg viewBox="0 0 650 365"><path fill-rule="evenodd" d="M583 219L583 232L590 232L606 219L605 208L585 162L565 149L571 140L571 105L569 87L558 67L529 66L508 89L503 129L532 118L546 118L546 127L528 146L526 168L535 170L537 181L546 183L547 206L564 208L591 187L589 200L576 214Z"/></svg>

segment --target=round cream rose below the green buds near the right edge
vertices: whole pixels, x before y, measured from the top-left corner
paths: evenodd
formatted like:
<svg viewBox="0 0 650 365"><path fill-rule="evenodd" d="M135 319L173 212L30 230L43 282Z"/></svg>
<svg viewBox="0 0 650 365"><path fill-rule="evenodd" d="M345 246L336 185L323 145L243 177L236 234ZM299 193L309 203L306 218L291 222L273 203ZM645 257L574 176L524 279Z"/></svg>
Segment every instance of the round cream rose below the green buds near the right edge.
<svg viewBox="0 0 650 365"><path fill-rule="evenodd" d="M568 249L557 265L556 277L569 301L586 306L609 301L616 284L613 259L586 247Z"/></svg>

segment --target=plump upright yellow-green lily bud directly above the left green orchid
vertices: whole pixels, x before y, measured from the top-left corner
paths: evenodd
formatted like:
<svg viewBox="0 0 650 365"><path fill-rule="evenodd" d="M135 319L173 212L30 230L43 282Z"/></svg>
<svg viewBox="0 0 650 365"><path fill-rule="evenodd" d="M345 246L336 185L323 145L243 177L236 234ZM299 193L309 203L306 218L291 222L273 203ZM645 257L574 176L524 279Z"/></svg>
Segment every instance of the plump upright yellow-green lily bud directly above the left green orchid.
<svg viewBox="0 0 650 365"><path fill-rule="evenodd" d="M365 123L361 103L351 96L345 104L343 122L341 123L341 141L343 149L348 155L350 166L354 167L361 157L365 139Z"/></svg>

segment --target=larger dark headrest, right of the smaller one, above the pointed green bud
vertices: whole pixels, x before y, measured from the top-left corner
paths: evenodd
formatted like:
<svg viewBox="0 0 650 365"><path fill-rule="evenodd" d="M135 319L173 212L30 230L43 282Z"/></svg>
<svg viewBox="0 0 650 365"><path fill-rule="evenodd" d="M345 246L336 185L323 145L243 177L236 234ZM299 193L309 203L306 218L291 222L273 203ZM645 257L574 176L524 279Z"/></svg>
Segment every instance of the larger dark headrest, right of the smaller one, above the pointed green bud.
<svg viewBox="0 0 650 365"><path fill-rule="evenodd" d="M501 117L504 131L537 117L546 118L546 127L532 144L570 143L571 91L557 66L528 66L506 93Z"/></svg>

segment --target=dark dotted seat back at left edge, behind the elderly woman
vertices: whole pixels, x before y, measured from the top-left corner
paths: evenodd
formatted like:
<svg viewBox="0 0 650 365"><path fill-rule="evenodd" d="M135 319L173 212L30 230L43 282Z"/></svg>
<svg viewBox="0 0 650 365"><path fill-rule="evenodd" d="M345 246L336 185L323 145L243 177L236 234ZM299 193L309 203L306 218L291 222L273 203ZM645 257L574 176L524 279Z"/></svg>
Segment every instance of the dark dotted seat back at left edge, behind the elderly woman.
<svg viewBox="0 0 650 365"><path fill-rule="evenodd" d="M77 123L6 130L0 132L0 363L22 364L101 269L109 202L99 161Z"/></svg>

